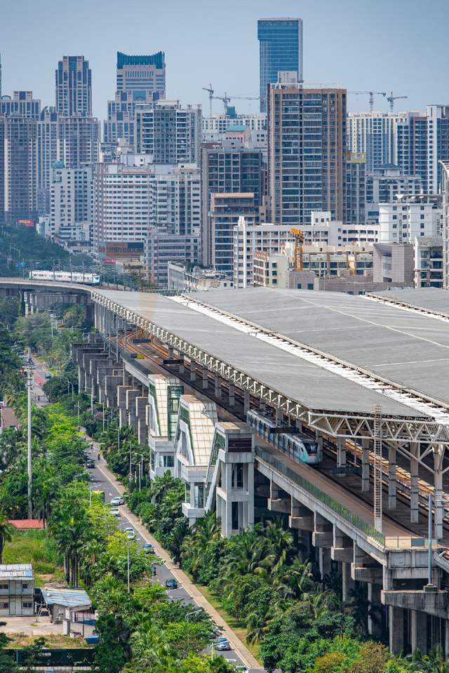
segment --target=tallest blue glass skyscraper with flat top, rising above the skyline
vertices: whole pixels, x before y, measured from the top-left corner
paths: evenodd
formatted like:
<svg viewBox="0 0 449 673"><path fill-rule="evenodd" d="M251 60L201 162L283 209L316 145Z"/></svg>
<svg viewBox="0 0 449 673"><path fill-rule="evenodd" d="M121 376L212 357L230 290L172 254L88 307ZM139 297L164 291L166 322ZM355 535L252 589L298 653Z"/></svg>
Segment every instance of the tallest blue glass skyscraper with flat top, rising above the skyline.
<svg viewBox="0 0 449 673"><path fill-rule="evenodd" d="M269 84L276 84L280 72L294 74L302 81L302 19L269 18L257 21L260 47L260 112L267 112Z"/></svg>

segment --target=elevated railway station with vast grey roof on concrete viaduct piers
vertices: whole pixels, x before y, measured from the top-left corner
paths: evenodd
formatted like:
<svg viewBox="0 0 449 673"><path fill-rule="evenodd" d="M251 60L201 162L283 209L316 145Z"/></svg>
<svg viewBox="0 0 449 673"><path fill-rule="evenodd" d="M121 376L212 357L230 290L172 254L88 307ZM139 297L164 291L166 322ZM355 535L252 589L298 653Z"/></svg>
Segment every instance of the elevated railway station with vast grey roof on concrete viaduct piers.
<svg viewBox="0 0 449 673"><path fill-rule="evenodd" d="M175 374L240 420L250 406L269 408L276 425L315 434L325 448L317 467L255 442L256 509L262 498L288 517L313 545L322 575L341 573L344 598L354 582L367 583L371 603L385 606L392 652L439 643L449 655L444 293L404 301L250 289L168 298L0 281L0 292L19 291L30 307L67 289L87 303L98 330L74 347L80 389L118 406L142 445L152 372ZM151 342L139 343L142 335ZM376 635L380 623L369 628Z"/></svg>

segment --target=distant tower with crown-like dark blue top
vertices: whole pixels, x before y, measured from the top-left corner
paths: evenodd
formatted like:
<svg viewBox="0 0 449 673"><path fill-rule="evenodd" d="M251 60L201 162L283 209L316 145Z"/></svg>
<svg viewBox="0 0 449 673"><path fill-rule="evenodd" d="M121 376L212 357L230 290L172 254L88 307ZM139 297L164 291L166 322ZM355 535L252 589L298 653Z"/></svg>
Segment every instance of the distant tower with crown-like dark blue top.
<svg viewBox="0 0 449 673"><path fill-rule="evenodd" d="M134 100L146 100L146 93L166 95L166 61L163 51L147 56L117 52L116 91L133 91Z"/></svg>

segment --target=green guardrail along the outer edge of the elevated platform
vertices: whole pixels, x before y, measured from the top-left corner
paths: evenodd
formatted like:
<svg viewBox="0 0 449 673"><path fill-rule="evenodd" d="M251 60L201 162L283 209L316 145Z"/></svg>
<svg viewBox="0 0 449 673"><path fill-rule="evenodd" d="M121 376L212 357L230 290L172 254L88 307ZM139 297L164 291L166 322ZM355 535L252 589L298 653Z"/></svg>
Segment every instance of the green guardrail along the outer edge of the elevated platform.
<svg viewBox="0 0 449 673"><path fill-rule="evenodd" d="M366 521L363 521L363 519L359 517L358 514L354 514L354 512L351 512L350 509L347 509L347 507L341 505L340 502L337 502L337 500L331 498L330 495L324 493L324 491L321 491L321 488L314 486L314 484L311 484L310 481L307 481L307 479L301 477L300 474L293 472L293 469L290 469L290 467L284 465L283 462L274 458L271 453L267 453L267 451L264 451L264 449L260 446L255 447L255 455L261 458L264 462L267 462L270 467L273 467L278 472L281 472L281 474L290 479L290 481L293 481L293 483L297 484L297 486L300 486L300 488L302 488L304 491L307 491L307 493L309 493L312 498L316 498L316 500L322 502L323 505L326 505L326 507L335 512L335 514L344 519L344 521L347 521L348 524L358 528L358 530L366 535L367 538L375 540L375 542L377 542L379 545L385 547L385 535L382 535L382 533L376 531L373 526L370 526L366 523Z"/></svg>

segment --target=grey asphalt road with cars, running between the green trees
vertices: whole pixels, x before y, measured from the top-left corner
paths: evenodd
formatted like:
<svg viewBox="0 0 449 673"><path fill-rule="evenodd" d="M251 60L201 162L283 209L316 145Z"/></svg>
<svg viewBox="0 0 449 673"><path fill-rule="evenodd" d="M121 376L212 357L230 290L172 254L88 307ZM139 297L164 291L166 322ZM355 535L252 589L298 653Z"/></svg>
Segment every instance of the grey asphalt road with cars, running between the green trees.
<svg viewBox="0 0 449 673"><path fill-rule="evenodd" d="M47 369L45 364L34 361L34 387L32 392L34 396L33 401L37 406L48 404L48 399L46 399L45 393L42 389L42 386L46 381L46 373ZM95 460L95 467L93 469L89 469L91 474L89 488L91 488L93 491L104 491L105 501L110 502L112 498L121 495L121 492L119 491L118 486L114 484L114 480L105 474L104 467L101 465L103 461L98 460L98 443L87 436L86 440L91 444L91 448L88 449L89 458ZM142 526L135 526L135 523L132 520L135 519L135 517L133 517L133 514L126 512L127 508L125 506L118 507L118 509L121 512L121 516L117 517L117 525L122 530L127 526L131 526L135 531L135 540L140 546L142 546L145 542L150 542L152 544L154 543L154 540L149 538L148 533L143 532ZM170 568L168 568L166 561L157 564L155 567L155 578L161 583L161 585L165 586L166 580L176 579L173 575L173 572L170 570ZM199 604L196 602L194 597L192 597L192 595L187 591L187 589L185 589L185 587L182 586L182 583L179 581L177 589L168 589L167 593L171 600L182 601L184 604L191 605L192 611L200 609ZM247 663L243 661L243 658L239 656L236 651L234 651L234 649L229 651L221 651L220 654L222 654L225 659L229 660L229 662L232 662L236 666L247 666ZM248 670L248 673L263 673L263 670L260 667L248 669L245 668L245 670Z"/></svg>

